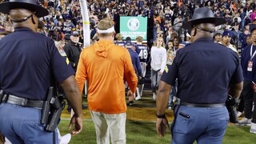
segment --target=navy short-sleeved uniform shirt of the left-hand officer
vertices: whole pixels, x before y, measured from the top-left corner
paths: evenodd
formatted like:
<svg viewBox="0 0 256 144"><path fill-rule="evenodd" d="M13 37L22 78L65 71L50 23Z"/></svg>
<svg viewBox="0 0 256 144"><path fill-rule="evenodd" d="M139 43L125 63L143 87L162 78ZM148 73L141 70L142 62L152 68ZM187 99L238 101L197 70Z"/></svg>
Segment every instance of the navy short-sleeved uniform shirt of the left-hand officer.
<svg viewBox="0 0 256 144"><path fill-rule="evenodd" d="M0 83L6 94L45 100L54 81L61 83L74 74L54 40L17 28L0 41Z"/></svg>

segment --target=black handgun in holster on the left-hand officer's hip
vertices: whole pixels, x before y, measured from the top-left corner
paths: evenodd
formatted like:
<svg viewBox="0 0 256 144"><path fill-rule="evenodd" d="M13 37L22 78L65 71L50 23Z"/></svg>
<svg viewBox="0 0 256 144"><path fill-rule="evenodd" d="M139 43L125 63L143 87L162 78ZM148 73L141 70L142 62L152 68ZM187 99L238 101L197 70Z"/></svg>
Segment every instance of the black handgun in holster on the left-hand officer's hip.
<svg viewBox="0 0 256 144"><path fill-rule="evenodd" d="M65 102L62 97L51 98L50 101L50 115L46 124L46 131L55 131L60 121L62 110L65 107Z"/></svg>

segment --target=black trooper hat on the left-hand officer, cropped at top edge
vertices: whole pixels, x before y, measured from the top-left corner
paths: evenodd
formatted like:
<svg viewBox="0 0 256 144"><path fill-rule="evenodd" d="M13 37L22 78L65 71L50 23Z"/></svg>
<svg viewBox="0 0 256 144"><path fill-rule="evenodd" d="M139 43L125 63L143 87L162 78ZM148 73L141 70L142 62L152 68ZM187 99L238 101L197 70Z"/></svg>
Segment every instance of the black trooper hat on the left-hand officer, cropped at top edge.
<svg viewBox="0 0 256 144"><path fill-rule="evenodd" d="M0 12L10 14L10 10L23 8L35 12L38 18L49 14L48 10L40 6L37 0L9 0L9 2L0 3Z"/></svg>

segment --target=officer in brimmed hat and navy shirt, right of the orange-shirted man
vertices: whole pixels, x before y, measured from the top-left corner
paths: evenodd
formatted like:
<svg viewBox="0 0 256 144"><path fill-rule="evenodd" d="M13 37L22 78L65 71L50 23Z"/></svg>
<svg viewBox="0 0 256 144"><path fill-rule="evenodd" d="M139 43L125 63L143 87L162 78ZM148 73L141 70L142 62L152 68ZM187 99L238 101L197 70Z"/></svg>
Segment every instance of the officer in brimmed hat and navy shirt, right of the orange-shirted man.
<svg viewBox="0 0 256 144"><path fill-rule="evenodd" d="M192 44L178 50L171 66L166 66L159 82L156 129L160 136L169 127L165 110L178 78L180 105L174 107L172 144L221 144L229 121L225 106L227 95L239 97L242 68L238 54L214 43L214 27L225 23L214 18L208 7L194 10L182 27L191 30Z"/></svg>

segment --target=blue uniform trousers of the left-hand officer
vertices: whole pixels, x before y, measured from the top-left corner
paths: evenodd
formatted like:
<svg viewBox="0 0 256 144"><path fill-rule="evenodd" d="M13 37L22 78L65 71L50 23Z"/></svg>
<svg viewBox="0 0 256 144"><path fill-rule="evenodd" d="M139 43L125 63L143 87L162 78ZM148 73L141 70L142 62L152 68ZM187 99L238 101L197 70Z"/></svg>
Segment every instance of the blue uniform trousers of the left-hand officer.
<svg viewBox="0 0 256 144"><path fill-rule="evenodd" d="M55 132L45 131L40 119L40 109L0 104L0 133L12 143L58 143L57 129Z"/></svg>

